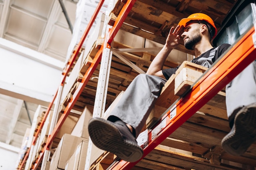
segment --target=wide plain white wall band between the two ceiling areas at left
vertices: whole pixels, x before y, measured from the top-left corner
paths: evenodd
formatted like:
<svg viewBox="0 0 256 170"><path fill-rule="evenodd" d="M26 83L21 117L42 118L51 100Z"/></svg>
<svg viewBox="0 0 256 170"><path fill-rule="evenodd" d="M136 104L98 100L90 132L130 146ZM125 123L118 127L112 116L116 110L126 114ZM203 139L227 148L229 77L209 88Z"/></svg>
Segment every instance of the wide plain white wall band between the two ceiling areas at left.
<svg viewBox="0 0 256 170"><path fill-rule="evenodd" d="M64 63L0 38L0 93L48 105L61 84Z"/></svg>

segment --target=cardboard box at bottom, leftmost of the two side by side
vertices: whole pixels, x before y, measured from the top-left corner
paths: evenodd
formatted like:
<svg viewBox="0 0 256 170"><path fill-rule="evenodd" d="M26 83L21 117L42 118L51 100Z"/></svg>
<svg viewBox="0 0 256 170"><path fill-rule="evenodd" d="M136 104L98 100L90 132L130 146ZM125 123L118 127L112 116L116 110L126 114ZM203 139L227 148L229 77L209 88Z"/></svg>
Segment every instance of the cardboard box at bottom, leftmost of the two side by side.
<svg viewBox="0 0 256 170"><path fill-rule="evenodd" d="M65 164L74 153L76 147L86 139L83 137L76 137L70 134L64 134L58 144L57 149L52 155L50 170L65 169Z"/></svg>

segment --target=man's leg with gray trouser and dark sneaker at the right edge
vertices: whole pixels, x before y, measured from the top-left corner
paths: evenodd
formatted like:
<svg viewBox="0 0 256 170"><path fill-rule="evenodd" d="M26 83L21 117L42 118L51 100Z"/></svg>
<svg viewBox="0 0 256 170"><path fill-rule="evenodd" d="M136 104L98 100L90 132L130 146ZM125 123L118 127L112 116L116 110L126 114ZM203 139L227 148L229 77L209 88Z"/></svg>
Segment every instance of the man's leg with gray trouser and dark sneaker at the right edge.
<svg viewBox="0 0 256 170"><path fill-rule="evenodd" d="M256 61L226 86L226 105L231 131L222 139L222 147L232 155L243 155L256 140Z"/></svg>

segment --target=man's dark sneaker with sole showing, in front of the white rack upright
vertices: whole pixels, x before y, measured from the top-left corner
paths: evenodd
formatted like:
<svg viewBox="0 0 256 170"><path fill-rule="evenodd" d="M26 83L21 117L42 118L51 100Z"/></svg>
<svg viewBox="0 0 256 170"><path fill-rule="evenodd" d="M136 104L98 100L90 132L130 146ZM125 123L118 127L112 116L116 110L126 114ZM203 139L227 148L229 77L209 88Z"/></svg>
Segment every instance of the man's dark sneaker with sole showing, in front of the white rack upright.
<svg viewBox="0 0 256 170"><path fill-rule="evenodd" d="M124 161L135 162L143 156L142 148L122 121L113 123L102 118L92 118L88 131L95 146Z"/></svg>

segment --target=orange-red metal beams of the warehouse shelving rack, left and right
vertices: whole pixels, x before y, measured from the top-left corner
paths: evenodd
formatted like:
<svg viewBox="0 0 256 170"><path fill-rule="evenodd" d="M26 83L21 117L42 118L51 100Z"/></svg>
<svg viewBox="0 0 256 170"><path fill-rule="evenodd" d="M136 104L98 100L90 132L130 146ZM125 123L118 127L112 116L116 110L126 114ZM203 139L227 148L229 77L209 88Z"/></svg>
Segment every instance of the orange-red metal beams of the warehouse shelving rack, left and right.
<svg viewBox="0 0 256 170"><path fill-rule="evenodd" d="M105 40L107 44L107 48L110 48L110 44L113 41L115 35L117 34L119 28L123 24L126 19L128 13L132 9L132 6L135 4L136 0L123 0L125 3L124 7L121 9L115 24L112 26L110 31L108 32L108 39ZM85 37L88 35L92 23L94 22L99 10L103 4L104 0L101 0L94 12L92 19L90 20L88 27L83 34L78 46L74 50L72 57L67 63L67 67L63 72L63 78L61 81L60 87L63 87L65 83L65 78L70 71L72 64L74 63L77 55L79 54L79 50L85 40ZM148 145L144 148L144 156L145 157L151 150L153 150L158 144L160 144L168 135L170 135L173 131L175 131L180 125L182 125L186 120L188 120L200 107L202 107L207 101L209 101L213 96L215 96L227 83L229 83L236 75L238 75L244 68L247 67L252 61L256 59L256 50L255 50L255 28L252 27L243 35L239 40L237 40L236 44L231 46L228 52L226 52L218 62L216 62L207 72L205 72L201 78L191 86L191 89L188 93L178 99L173 105L171 105L165 113L163 113L162 117L157 121L157 125L148 131ZM76 100L79 95L83 91L83 88L88 83L90 77L92 76L94 70L101 60L101 56L103 54L104 47L101 46L97 54L95 55L90 67L82 78L81 83L77 87L76 91L73 94L72 100L68 103L65 108L64 113L61 118L58 120L58 123L54 127L51 135L47 138L47 144L44 146L43 150L41 150L39 158L36 160L36 163L32 167L32 169L37 169L39 164L43 159L43 155L46 150L49 150L50 145L53 142L54 137L58 133L58 130L64 123L68 114L70 113L72 107L74 106ZM42 122L39 125L38 130L36 131L36 135L34 136L31 147L36 142L36 138L38 137L40 130L43 127L43 124L47 118L47 115L52 108L54 101L56 100L56 96L58 96L58 89L52 102L49 104L49 107L45 113L45 116ZM29 150L31 149L29 148ZM28 158L29 150L25 157L22 160L22 166ZM138 161L137 161L138 162ZM135 166L137 162L126 162L126 161L115 161L112 163L110 169L120 170L120 169L130 169L132 166Z"/></svg>

